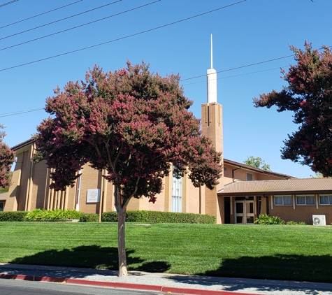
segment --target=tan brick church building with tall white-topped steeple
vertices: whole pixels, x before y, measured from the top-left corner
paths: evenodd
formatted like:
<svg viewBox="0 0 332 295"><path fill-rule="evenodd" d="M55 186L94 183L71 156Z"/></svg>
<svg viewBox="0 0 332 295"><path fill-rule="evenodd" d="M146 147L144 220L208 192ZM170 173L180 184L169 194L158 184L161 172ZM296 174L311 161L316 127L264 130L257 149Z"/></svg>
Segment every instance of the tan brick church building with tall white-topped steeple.
<svg viewBox="0 0 332 295"><path fill-rule="evenodd" d="M260 214L283 220L312 224L332 222L332 179L293 178L282 173L264 171L224 159L222 136L222 105L217 101L217 71L212 64L207 71L207 102L201 105L201 129L215 149L222 152L223 173L215 189L196 188L185 177L172 173L164 178L164 189L157 201L131 199L127 210L160 210L167 212L208 214L218 224L253 224ZM84 213L115 210L114 187L103 178L104 171L85 165L73 187L63 192L49 188L50 169L45 161L31 162L35 152L30 139L12 147L17 161L13 184L8 194L0 194L0 210L75 209ZM316 217L318 216L318 217ZM315 222L314 222L315 223Z"/></svg>

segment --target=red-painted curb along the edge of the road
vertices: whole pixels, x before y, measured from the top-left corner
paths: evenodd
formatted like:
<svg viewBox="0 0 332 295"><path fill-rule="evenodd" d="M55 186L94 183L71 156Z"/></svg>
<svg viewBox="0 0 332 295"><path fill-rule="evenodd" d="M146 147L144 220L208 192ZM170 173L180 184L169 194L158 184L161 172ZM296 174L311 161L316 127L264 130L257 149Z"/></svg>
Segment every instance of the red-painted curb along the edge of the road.
<svg viewBox="0 0 332 295"><path fill-rule="evenodd" d="M50 278L39 277L36 275L8 275L0 273L0 279L10 280L28 280L33 282L60 282L73 285L88 285L94 287L110 287L110 288L122 288L122 289L136 289L146 291L156 291L164 293L178 293L178 294L190 294L190 295L259 295L259 294L247 294L242 292L230 292L230 291L217 291L217 290L204 290L204 289L187 289L178 287L164 287L159 285L142 285L132 284L125 282L101 282L94 280L81 280L71 278Z"/></svg>

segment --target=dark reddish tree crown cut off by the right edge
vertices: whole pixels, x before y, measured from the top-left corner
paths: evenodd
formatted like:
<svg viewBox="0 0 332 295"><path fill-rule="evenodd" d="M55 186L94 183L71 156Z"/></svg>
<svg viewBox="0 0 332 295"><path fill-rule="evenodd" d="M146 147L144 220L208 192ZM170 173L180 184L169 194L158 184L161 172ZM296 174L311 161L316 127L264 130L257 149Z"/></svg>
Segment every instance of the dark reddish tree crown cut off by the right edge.
<svg viewBox="0 0 332 295"><path fill-rule="evenodd" d="M260 94L254 98L258 107L277 106L277 111L294 112L298 131L288 135L282 148L282 159L308 165L312 171L332 176L332 52L323 46L322 52L312 50L305 42L305 50L290 46L297 64L288 73L288 82L281 92Z"/></svg>

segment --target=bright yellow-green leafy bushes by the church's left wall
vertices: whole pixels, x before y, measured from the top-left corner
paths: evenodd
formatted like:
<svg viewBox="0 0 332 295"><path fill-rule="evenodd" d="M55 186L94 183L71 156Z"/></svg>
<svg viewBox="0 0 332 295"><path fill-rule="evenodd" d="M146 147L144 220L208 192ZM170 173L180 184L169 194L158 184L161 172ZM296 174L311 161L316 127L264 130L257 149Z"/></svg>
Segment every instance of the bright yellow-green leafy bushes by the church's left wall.
<svg viewBox="0 0 332 295"><path fill-rule="evenodd" d="M79 220L82 213L76 210L42 210L35 209L27 213L26 220Z"/></svg>

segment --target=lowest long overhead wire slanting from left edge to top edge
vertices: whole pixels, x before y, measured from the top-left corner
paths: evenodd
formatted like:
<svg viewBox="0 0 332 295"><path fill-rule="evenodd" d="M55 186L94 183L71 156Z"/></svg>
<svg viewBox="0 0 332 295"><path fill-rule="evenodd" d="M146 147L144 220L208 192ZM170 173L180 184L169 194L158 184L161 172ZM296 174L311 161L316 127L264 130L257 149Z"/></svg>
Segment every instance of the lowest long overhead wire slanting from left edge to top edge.
<svg viewBox="0 0 332 295"><path fill-rule="evenodd" d="M94 47L97 47L97 46L105 45L105 44L112 43L112 42L115 42L115 41L120 41L120 40L123 40L123 39L126 39L126 38L130 38L130 37L133 37L133 36L138 36L138 35L140 35L140 34L145 34L145 33L149 32L149 31L154 31L154 30L157 30L157 29L161 29L161 28L164 28L164 27L168 27L168 26L171 26L172 24L178 24L179 22L185 22L186 20L191 20L191 19L194 18L194 17L199 17L199 16L201 16L201 15L206 15L206 14L208 14L208 13L212 13L212 12L215 12L215 11L217 11L217 10L221 10L221 9L223 9L223 8L228 8L228 7L230 7L230 6L234 6L234 5L236 5L236 4L239 4L239 3L242 3L242 2L245 2L245 1L247 1L247 0L238 1L238 2L236 2L236 3L232 3L232 4L229 4L229 5L226 5L226 6L222 6L222 7L219 7L219 8L213 9L213 10L209 10L209 11L207 11L207 12L205 12L205 13L200 13L200 14L198 14L198 15L194 15L194 16L191 16L191 17L186 17L186 18L184 18L184 19L182 19L182 20L177 20L177 21L175 21L175 22L170 22L170 23L168 23L168 24L163 24L163 25L161 25L161 26L159 26L159 27L154 27L154 28L152 28L152 29L147 29L147 30L145 30L145 31L140 31L140 32L135 33L135 34L131 34L131 35L127 35L127 36L124 36L124 37L116 38L116 39L113 39L113 40L110 40L110 41L106 41L106 42L103 42L103 43L99 43L99 44L95 44L95 45L87 46L87 47L85 47L85 48L80 48L80 49L76 49L76 50L72 50L72 51L68 51L68 52L60 53L59 55L53 55L52 57L45 57L45 58L43 58L43 59L37 59L37 60L35 60L35 61L33 61L33 62L26 62L25 64L18 64L17 66L10 66L9 68L6 68L6 69L0 69L0 72L1 72L1 71L7 71L7 70L10 70L10 69L15 69L15 68L18 68L18 67L20 67L20 66L27 66L28 64L34 64L34 63L36 63L36 62L42 62L42 61L44 61L44 60L53 59L53 58L55 58L55 57L61 57L61 56L63 56L63 55L69 55L69 54L74 53L74 52L79 52L79 51L82 51L82 50L87 50L87 49L89 49L89 48L94 48ZM1 39L0 39L0 40L1 40Z"/></svg>

